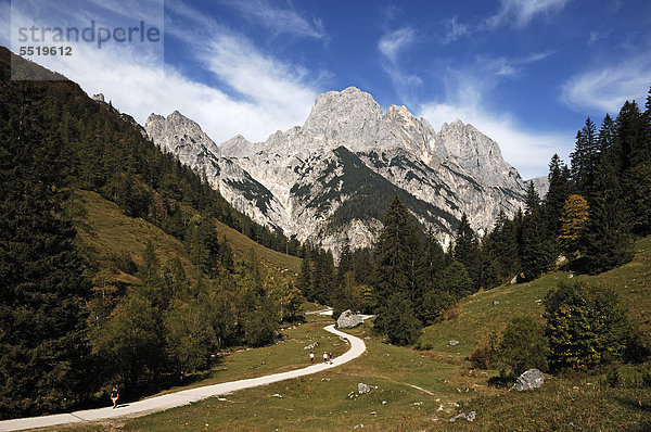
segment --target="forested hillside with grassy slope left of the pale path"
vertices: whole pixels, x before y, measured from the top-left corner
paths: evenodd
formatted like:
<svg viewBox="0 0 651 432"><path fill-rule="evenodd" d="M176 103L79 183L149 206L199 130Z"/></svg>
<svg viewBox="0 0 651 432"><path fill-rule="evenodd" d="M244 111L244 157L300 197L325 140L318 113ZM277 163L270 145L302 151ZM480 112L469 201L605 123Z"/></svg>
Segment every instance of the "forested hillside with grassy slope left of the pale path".
<svg viewBox="0 0 651 432"><path fill-rule="evenodd" d="M76 84L10 80L10 55L0 49L1 417L92 404L113 383L136 397L301 318L298 258L225 224L282 252L296 241Z"/></svg>

